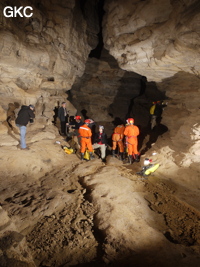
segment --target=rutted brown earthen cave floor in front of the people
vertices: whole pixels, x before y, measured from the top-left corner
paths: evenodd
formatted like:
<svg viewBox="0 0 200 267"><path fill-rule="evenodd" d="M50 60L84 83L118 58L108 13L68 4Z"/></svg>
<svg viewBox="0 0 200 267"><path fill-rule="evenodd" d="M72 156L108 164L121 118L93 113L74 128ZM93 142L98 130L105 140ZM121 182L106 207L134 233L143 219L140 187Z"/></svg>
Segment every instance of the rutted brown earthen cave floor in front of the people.
<svg viewBox="0 0 200 267"><path fill-rule="evenodd" d="M166 178L169 164L136 175L157 143L131 166L82 162L65 144L1 147L0 266L199 266L199 188Z"/></svg>

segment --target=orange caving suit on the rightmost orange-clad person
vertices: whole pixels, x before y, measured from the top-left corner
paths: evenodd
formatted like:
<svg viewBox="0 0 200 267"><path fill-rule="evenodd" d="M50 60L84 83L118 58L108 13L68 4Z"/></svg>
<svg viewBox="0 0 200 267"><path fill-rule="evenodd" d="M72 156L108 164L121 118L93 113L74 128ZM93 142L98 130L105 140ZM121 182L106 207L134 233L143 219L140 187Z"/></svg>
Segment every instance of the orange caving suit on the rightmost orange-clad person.
<svg viewBox="0 0 200 267"><path fill-rule="evenodd" d="M135 125L128 125L125 128L124 135L127 136L127 144L128 144L128 154L138 154L137 146L138 140L137 136L139 135L139 129Z"/></svg>

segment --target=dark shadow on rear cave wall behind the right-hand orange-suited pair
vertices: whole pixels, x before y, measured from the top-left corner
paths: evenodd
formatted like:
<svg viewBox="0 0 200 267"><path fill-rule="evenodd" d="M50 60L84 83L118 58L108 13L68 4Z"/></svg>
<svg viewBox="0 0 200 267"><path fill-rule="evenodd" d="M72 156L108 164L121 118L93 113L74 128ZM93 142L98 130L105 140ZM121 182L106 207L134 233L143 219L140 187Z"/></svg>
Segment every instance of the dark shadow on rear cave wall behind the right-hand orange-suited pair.
<svg viewBox="0 0 200 267"><path fill-rule="evenodd" d="M131 74L133 75L133 73ZM157 141L158 137L168 130L165 125L161 124L162 118L151 130L149 113L152 102L164 100L166 96L158 90L155 82L147 82L145 76L131 77L130 73L125 73L121 79L121 84L108 112L114 118L113 123L117 117L121 118L123 123L126 122L127 118L134 118L135 125L140 130L138 149L140 150L145 146L140 151L141 154L144 154ZM149 140L144 145L143 142L147 135L149 135Z"/></svg>

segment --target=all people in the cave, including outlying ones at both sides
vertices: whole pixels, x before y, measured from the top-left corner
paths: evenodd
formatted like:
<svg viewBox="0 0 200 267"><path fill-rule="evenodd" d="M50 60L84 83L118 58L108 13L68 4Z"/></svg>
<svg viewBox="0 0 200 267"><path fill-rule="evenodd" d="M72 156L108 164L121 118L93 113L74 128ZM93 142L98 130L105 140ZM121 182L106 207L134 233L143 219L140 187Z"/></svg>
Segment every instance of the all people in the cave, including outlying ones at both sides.
<svg viewBox="0 0 200 267"><path fill-rule="evenodd" d="M153 102L153 106L150 108L151 114L151 129L153 129L162 115L163 107L165 107L162 101ZM20 143L21 149L28 149L26 146L26 126L28 122L31 122L35 118L34 106L22 106L16 119L16 125L20 129ZM81 159L84 159L84 153L86 150L89 151L90 159L94 158L94 149L99 148L101 153L101 159L105 161L106 148L107 148L107 135L104 132L104 126L99 125L98 132L93 136L92 126L94 121L86 119L84 122L81 120L81 116L73 117L70 121L68 112L66 110L66 102L63 102L61 107L58 109L58 118L61 125L61 134L69 136L78 145L80 149ZM66 131L66 129L68 130ZM138 152L138 137L139 128L134 125L134 119L128 118L126 125L123 123L117 125L112 134L112 156L116 156L116 149L118 148L119 159L123 160L125 154L128 156L129 163L133 161L139 161Z"/></svg>

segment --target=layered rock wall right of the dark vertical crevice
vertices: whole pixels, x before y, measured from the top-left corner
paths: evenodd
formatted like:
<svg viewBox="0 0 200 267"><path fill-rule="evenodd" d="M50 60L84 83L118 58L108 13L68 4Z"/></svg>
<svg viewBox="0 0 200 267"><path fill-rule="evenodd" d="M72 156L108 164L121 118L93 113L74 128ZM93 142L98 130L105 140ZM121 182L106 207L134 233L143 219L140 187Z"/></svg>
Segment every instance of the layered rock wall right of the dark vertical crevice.
<svg viewBox="0 0 200 267"><path fill-rule="evenodd" d="M120 68L154 81L168 99L161 122L168 132L153 146L163 154L165 175L198 188L200 2L107 0L104 9L105 48Z"/></svg>

